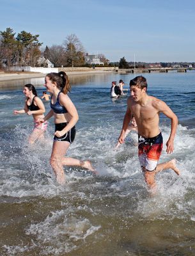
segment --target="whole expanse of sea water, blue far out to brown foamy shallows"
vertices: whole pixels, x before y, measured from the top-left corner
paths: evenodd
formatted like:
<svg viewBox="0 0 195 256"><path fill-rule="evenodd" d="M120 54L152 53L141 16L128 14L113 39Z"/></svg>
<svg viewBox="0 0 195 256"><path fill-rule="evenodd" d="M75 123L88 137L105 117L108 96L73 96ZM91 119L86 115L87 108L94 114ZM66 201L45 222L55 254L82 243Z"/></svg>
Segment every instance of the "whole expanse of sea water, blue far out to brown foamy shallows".
<svg viewBox="0 0 195 256"><path fill-rule="evenodd" d="M158 192L148 193L131 132L117 151L128 94L110 98L111 81L129 88L134 74L70 76L70 98L79 113L67 156L90 159L99 175L65 166L59 186L49 164L53 119L45 141L27 145L33 120L13 115L24 108L22 88L44 79L0 83L0 255L195 255L195 72L143 74L148 94L164 100L178 116L173 154L166 154L170 122L160 115L164 147L160 163L176 158L157 175ZM46 112L49 102L44 102Z"/></svg>

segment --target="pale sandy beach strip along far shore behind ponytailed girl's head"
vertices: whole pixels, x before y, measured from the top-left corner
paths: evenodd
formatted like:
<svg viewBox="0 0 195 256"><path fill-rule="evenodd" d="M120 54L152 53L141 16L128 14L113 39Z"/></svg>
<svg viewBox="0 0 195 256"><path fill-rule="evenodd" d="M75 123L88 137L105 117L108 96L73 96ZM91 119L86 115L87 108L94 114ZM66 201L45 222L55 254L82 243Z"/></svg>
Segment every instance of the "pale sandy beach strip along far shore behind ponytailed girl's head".
<svg viewBox="0 0 195 256"><path fill-rule="evenodd" d="M72 72L66 72L68 76L75 76L75 75L83 75L83 74L100 74L100 73L107 73L107 72L113 72L113 71L103 71L103 70L93 70L93 71L72 71ZM45 77L46 74L43 73L32 73L32 74L0 74L0 82L1 81L11 81L16 79L31 79L31 78L38 78L38 77Z"/></svg>

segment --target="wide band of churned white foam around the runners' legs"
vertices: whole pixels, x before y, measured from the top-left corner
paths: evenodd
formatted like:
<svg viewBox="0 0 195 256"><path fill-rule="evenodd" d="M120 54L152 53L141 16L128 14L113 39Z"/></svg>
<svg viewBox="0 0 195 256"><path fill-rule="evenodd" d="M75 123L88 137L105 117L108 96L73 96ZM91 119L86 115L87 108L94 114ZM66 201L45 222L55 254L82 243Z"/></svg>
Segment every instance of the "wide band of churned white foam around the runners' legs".
<svg viewBox="0 0 195 256"><path fill-rule="evenodd" d="M66 186L58 186L56 179L49 164L52 150L52 125L47 131L47 143L36 143L27 146L27 136L31 132L31 127L22 127L17 125L13 134L15 136L14 145L10 143L10 148L16 150L12 155L11 165L18 164L20 168L11 166L4 170L6 175L1 182L1 195L16 196L19 198L25 196L55 196L63 195L71 186L80 183L82 180L92 180L94 177L90 172L82 168L67 168L65 173L68 179ZM150 216L156 212L156 216L162 218L163 214L171 214L180 209L184 211L187 202L185 196L189 189L194 190L194 162L195 162L195 130L178 126L178 132L175 138L175 151L172 155L166 154L166 141L169 138L170 128L162 126L162 135L164 137L164 148L159 163L177 159L177 166L181 170L178 177L175 172L168 170L157 175L158 193L149 200L142 195L136 194L139 198L137 212L143 216ZM118 138L118 129L112 125L106 127L89 127L80 129L74 143L68 149L67 156L78 159L90 159L98 171L98 177L117 178L116 182L110 186L113 188L113 195L117 191L125 189L127 195L127 184L122 180L133 180L134 188L146 190L139 159L137 157L137 146L135 144L136 134L129 134L124 145L121 145L117 151L113 148ZM134 137L133 140L130 138ZM13 149L14 147L16 149ZM17 154L17 147L19 154ZM1 151L1 156L5 152ZM98 178L99 179L99 178ZM95 182L95 179L94 179ZM99 187L104 182L98 182ZM102 185L101 185L102 184ZM93 184L90 185L91 188ZM114 190L116 189L116 190ZM120 193L120 195L123 195ZM164 205L166 205L164 207ZM174 207L172 207L174 205ZM173 211L170 210L171 207Z"/></svg>

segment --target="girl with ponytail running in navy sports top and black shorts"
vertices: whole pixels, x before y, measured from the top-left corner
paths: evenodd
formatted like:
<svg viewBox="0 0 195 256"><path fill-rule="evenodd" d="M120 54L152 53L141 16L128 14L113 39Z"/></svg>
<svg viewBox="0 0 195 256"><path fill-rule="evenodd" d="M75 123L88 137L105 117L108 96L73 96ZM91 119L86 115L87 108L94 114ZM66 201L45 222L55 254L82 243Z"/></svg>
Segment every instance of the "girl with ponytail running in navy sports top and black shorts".
<svg viewBox="0 0 195 256"><path fill-rule="evenodd" d="M45 77L45 87L51 93L51 111L39 122L45 122L54 115L55 133L51 154L51 166L59 184L65 184L63 166L81 166L96 173L90 161L82 161L65 154L75 138L75 124L79 120L77 109L67 93L70 83L65 72L50 73Z"/></svg>

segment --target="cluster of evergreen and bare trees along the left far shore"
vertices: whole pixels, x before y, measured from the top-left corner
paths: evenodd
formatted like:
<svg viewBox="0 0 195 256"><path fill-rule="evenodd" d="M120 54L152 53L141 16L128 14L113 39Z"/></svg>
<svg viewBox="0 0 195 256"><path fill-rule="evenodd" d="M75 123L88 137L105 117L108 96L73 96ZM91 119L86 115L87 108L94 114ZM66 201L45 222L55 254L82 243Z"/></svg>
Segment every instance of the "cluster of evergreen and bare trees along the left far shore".
<svg viewBox="0 0 195 256"><path fill-rule="evenodd" d="M44 56L54 67L79 67L84 65L84 47L75 34L66 36L63 44L41 49L39 35L21 31L15 35L12 28L0 31L0 65L38 67L38 59ZM41 65L47 66L46 63Z"/></svg>

